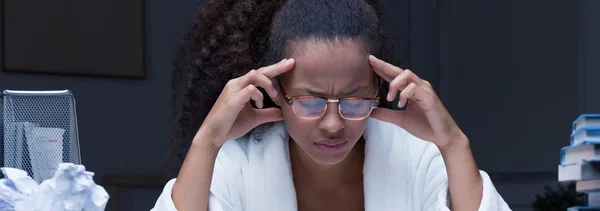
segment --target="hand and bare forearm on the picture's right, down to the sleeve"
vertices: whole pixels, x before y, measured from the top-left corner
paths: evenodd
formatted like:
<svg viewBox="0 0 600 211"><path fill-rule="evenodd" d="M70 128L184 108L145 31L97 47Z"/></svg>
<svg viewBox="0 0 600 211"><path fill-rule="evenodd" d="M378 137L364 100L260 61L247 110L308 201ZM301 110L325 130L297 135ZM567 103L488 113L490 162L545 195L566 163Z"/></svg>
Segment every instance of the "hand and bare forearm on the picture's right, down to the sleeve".
<svg viewBox="0 0 600 211"><path fill-rule="evenodd" d="M410 70L369 57L373 70L390 82L387 100L400 92L399 106L406 110L386 108L373 110L371 117L391 122L410 134L433 142L439 148L448 175L448 193L452 210L477 210L483 198L483 179L469 147L469 140L458 128L429 82ZM382 93L386 94L386 93Z"/></svg>

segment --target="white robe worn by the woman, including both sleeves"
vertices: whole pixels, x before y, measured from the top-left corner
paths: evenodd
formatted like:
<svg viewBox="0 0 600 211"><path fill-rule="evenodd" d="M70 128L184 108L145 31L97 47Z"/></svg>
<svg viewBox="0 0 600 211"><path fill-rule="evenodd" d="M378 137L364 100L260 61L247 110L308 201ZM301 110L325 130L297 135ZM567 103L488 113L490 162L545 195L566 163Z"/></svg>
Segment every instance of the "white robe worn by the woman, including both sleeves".
<svg viewBox="0 0 600 211"><path fill-rule="evenodd" d="M448 175L437 146L391 123L370 118L363 134L365 210L450 210ZM211 211L294 211L288 134L283 122L264 124L225 142L210 187ZM511 210L489 176L480 171L479 210ZM153 211L175 211L169 181Z"/></svg>

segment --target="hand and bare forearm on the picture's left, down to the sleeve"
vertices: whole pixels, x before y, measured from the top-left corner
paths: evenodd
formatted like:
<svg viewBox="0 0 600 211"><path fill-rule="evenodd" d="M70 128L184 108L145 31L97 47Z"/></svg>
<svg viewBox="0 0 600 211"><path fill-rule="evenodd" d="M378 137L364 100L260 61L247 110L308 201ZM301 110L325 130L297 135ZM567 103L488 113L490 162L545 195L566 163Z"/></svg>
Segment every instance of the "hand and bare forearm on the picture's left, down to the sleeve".
<svg viewBox="0 0 600 211"><path fill-rule="evenodd" d="M264 96L257 86L278 102L271 78L291 70L294 64L294 59L284 59L227 82L196 132L173 185L171 197L178 210L207 210L217 154L225 141L241 137L263 123L283 119L278 108L262 109ZM250 100L258 109L250 106Z"/></svg>

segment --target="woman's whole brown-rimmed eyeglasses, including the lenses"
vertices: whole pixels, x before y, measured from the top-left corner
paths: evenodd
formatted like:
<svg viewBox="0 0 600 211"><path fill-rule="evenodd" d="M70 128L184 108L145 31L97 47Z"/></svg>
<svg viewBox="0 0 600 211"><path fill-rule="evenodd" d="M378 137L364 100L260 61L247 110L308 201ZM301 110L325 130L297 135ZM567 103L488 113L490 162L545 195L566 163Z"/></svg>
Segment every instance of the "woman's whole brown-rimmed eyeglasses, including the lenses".
<svg viewBox="0 0 600 211"><path fill-rule="evenodd" d="M379 105L379 94L374 98L349 96L337 100L312 95L289 96L285 93L279 77L276 80L287 104L292 106L296 116L303 119L321 118L327 111L327 104L338 103L338 111L342 118L362 120L369 117L373 109Z"/></svg>

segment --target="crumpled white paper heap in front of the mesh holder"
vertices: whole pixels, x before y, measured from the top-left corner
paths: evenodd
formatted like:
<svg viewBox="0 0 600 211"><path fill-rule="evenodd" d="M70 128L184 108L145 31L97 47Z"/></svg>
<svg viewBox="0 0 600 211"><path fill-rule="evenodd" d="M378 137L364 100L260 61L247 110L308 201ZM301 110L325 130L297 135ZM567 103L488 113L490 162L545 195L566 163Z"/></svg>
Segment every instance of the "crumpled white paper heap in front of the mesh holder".
<svg viewBox="0 0 600 211"><path fill-rule="evenodd" d="M108 193L94 183L94 173L85 171L83 165L61 163L54 177L40 185L24 171L1 169L12 176L0 180L0 208L6 205L11 210L12 205L16 211L102 211L108 202Z"/></svg>

